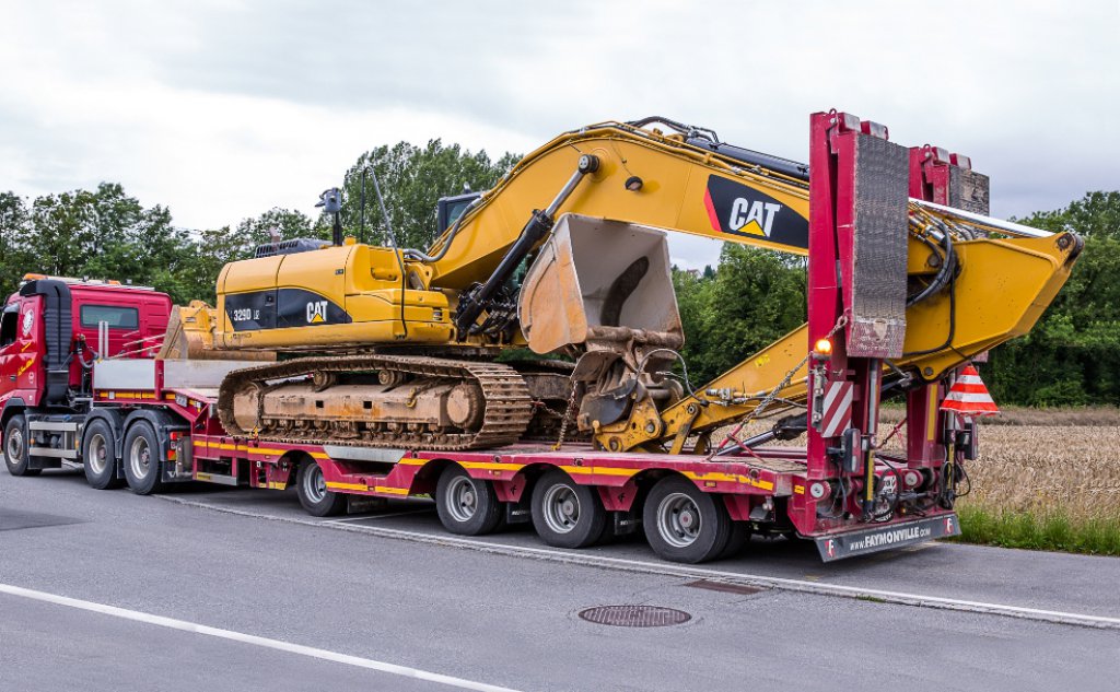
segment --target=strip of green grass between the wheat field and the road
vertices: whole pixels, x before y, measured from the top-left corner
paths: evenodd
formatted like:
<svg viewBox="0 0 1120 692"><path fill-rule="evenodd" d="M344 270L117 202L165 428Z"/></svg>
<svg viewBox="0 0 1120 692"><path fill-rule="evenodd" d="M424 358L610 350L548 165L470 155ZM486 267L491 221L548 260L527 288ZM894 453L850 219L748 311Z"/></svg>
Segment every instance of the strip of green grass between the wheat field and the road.
<svg viewBox="0 0 1120 692"><path fill-rule="evenodd" d="M1072 520L1060 513L992 512L960 506L961 535L954 541L1120 557L1120 517Z"/></svg>

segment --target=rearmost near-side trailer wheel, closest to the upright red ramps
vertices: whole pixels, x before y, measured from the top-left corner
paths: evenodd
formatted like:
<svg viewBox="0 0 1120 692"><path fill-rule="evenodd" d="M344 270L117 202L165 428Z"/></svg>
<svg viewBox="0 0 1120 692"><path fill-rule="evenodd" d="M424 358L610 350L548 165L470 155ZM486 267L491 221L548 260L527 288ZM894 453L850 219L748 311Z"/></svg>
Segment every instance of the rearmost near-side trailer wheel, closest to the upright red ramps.
<svg viewBox="0 0 1120 692"><path fill-rule="evenodd" d="M731 517L720 497L680 476L653 486L642 523L653 552L672 562L707 562L718 558L731 539Z"/></svg>

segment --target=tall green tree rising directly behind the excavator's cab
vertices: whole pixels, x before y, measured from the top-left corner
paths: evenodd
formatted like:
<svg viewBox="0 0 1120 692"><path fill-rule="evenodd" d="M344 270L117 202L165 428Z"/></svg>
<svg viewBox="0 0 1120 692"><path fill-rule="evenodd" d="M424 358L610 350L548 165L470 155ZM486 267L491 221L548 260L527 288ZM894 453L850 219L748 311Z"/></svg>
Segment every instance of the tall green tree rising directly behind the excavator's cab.
<svg viewBox="0 0 1120 692"><path fill-rule="evenodd" d="M442 228L436 224L436 202L458 195L464 186L475 190L493 187L521 157L505 153L492 161L485 151L472 153L458 144L444 146L435 139L427 147L398 142L382 146L358 157L346 171L343 219L346 232L357 235L362 217L363 171L370 167L377 176L396 242L402 247L426 249ZM366 231L363 242L389 243L385 222L377 205L373 180L366 179ZM329 233L329 223L324 222Z"/></svg>

